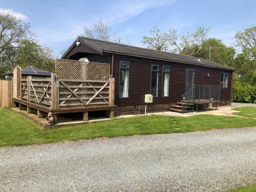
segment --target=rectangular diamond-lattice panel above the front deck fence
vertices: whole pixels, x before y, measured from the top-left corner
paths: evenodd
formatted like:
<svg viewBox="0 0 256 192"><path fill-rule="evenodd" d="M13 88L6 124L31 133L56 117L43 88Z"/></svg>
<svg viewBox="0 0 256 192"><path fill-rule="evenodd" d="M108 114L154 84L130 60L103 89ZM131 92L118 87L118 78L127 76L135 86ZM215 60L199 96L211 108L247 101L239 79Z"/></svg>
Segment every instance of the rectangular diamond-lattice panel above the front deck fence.
<svg viewBox="0 0 256 192"><path fill-rule="evenodd" d="M108 80L110 77L109 63L56 59L55 71L63 79Z"/></svg>

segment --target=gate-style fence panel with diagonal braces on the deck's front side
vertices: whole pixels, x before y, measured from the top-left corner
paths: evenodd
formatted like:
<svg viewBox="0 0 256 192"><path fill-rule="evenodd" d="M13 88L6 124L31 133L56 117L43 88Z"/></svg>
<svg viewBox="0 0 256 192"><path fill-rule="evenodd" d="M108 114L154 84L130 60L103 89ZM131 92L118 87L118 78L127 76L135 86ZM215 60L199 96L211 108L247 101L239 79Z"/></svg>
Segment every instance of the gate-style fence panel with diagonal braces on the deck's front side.
<svg viewBox="0 0 256 192"><path fill-rule="evenodd" d="M59 79L59 108L109 104L109 81Z"/></svg>

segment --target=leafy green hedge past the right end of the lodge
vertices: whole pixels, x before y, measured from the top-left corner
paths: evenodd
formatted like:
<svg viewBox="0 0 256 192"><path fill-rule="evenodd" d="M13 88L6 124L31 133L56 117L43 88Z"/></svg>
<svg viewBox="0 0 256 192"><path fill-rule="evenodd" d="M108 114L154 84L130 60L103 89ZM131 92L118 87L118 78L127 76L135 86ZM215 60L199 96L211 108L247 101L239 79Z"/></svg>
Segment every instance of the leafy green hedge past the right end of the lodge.
<svg viewBox="0 0 256 192"><path fill-rule="evenodd" d="M233 82L232 102L256 103L256 86L242 86L240 82Z"/></svg>

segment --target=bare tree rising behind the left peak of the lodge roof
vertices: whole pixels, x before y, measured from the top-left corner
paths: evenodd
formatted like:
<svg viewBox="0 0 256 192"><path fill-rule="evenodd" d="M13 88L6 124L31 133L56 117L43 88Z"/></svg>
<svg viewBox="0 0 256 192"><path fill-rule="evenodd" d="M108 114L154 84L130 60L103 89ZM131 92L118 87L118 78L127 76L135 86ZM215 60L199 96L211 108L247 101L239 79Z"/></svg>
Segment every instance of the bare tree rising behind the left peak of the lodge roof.
<svg viewBox="0 0 256 192"><path fill-rule="evenodd" d="M89 38L96 38L101 40L113 41L123 44L131 44L127 36L121 36L115 32L113 32L110 28L108 22L103 22L102 20L98 20L91 26L83 27L84 34L82 36L86 36Z"/></svg>

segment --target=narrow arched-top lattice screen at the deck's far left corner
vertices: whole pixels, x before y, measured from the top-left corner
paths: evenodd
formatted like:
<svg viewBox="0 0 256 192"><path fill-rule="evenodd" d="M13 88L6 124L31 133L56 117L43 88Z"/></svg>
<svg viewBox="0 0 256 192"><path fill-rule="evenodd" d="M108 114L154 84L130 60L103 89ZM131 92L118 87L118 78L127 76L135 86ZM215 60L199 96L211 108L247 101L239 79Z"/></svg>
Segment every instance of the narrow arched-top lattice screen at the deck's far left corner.
<svg viewBox="0 0 256 192"><path fill-rule="evenodd" d="M22 68L19 66L13 70L13 97L22 98Z"/></svg>

